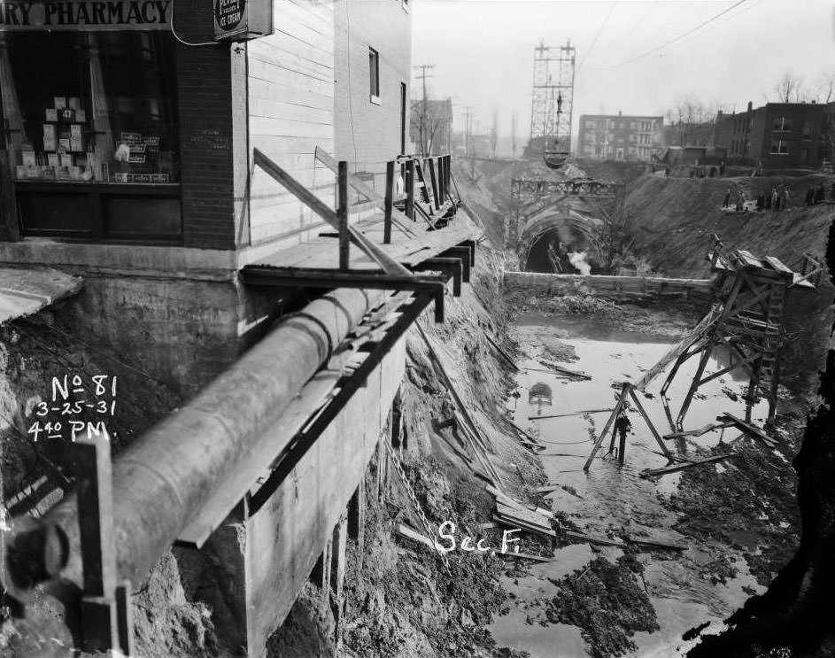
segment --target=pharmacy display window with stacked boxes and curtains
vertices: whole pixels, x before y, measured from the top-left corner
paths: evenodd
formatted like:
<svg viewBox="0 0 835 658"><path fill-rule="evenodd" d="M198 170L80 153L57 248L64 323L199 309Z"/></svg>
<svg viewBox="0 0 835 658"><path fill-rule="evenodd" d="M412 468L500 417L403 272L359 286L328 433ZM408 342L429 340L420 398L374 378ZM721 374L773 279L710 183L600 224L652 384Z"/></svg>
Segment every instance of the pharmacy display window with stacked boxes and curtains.
<svg viewBox="0 0 835 658"><path fill-rule="evenodd" d="M0 83L17 181L179 182L171 35L0 34Z"/></svg>

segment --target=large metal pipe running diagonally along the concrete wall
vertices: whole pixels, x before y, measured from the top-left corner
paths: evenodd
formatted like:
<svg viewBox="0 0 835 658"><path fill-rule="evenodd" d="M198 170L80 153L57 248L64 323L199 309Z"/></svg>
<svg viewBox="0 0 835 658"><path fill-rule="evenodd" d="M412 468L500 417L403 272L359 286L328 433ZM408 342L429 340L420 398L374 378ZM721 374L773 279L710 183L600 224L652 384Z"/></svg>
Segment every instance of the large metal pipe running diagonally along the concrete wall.
<svg viewBox="0 0 835 658"><path fill-rule="evenodd" d="M339 289L316 299L284 319L195 399L114 460L113 523L120 579L134 584L143 580L259 432L278 420L384 294ZM66 534L69 552L60 576L81 587L78 522L74 495L42 520ZM18 582L32 580L31 574L10 575Z"/></svg>

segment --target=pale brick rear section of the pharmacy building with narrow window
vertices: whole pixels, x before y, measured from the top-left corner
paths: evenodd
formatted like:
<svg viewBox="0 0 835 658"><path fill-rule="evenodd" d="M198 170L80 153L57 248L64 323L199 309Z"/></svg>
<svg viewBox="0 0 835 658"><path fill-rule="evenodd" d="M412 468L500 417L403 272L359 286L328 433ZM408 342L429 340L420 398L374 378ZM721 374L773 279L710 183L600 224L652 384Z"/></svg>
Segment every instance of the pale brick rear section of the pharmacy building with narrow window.
<svg viewBox="0 0 835 658"><path fill-rule="evenodd" d="M382 191L385 163L400 153L400 84L406 83L409 149L411 16L401 0L336 0L336 159L375 174ZM380 104L370 98L368 49L380 56Z"/></svg>

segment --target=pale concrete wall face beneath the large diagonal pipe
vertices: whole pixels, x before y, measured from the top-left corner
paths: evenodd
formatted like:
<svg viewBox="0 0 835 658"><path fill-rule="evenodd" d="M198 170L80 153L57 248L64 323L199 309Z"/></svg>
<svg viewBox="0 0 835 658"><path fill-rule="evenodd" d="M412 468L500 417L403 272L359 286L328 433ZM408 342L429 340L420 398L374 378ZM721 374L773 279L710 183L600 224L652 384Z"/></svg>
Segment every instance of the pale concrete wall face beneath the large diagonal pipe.
<svg viewBox="0 0 835 658"><path fill-rule="evenodd" d="M290 613L313 565L344 515L375 453L406 370L400 340L368 376L287 480L246 524L247 646L267 638ZM279 425L274 431L281 433Z"/></svg>

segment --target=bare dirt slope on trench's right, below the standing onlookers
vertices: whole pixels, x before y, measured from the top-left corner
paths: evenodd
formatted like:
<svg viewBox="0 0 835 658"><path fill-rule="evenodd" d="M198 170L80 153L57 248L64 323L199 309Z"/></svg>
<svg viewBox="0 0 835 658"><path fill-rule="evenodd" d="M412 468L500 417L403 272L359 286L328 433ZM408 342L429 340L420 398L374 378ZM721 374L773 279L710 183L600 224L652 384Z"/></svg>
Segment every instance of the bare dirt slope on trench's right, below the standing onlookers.
<svg viewBox="0 0 835 658"><path fill-rule="evenodd" d="M754 256L776 256L800 271L803 254L823 263L817 290L794 288L786 300L783 381L792 391L816 386L829 338L830 306L835 298L825 264L832 205L801 205L808 187L831 180L823 174L797 178L664 178L644 175L627 190L627 233L632 251L668 276L709 277L707 252L719 236L727 250L746 249ZM772 188L788 186L789 207L762 213L724 213L727 190L743 190L748 199Z"/></svg>

